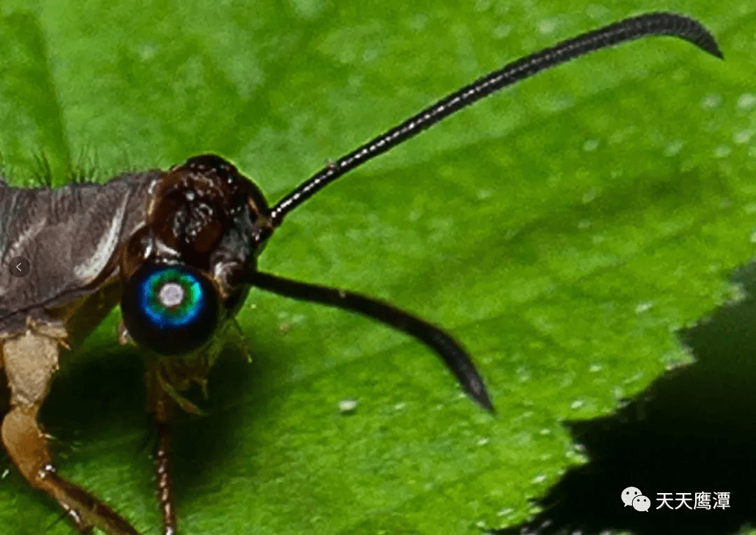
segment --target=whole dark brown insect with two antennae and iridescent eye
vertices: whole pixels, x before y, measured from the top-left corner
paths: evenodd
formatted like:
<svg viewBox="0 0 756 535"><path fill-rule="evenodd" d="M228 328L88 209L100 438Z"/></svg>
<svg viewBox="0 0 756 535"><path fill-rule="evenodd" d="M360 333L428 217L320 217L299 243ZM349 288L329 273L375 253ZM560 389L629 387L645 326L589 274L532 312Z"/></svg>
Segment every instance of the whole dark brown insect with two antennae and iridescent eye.
<svg viewBox="0 0 756 535"><path fill-rule="evenodd" d="M676 36L722 57L695 20L646 14L562 42L504 66L364 144L273 208L219 156L196 156L168 172L122 175L107 184L17 189L0 181L0 356L10 387L2 443L29 484L55 499L79 533L138 531L110 506L57 474L38 414L63 350L120 303L120 339L144 349L148 404L157 427L156 474L163 533L176 533L169 474L175 406L204 386L234 316L252 287L372 317L429 345L463 390L493 412L466 352L441 329L364 295L261 273L256 258L283 217L330 182L446 116L550 66L643 36ZM12 277L11 258L28 259Z"/></svg>

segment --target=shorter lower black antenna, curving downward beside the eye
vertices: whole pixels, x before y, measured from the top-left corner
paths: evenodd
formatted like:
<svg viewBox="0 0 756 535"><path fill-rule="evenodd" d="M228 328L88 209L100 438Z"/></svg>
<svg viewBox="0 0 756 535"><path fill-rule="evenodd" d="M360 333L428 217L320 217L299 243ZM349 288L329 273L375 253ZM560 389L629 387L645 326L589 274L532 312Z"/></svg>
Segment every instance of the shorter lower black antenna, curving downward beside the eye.
<svg viewBox="0 0 756 535"><path fill-rule="evenodd" d="M483 384L475 365L462 346L448 333L437 326L421 320L394 305L348 290L328 288L316 284L302 283L275 275L253 271L247 276L247 283L269 292L285 295L302 301L310 301L357 312L392 326L414 336L435 351L457 377L464 391L485 410L494 412L494 405Z"/></svg>

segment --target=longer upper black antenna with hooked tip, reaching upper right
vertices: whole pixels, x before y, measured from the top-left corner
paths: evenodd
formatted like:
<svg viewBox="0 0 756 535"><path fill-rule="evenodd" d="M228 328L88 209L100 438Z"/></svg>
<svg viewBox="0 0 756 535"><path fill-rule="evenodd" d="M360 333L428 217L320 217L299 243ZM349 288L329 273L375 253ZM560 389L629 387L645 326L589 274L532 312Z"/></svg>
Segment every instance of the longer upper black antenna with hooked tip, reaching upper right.
<svg viewBox="0 0 756 535"><path fill-rule="evenodd" d="M445 117L487 97L494 91L583 54L646 36L679 37L702 48L709 54L723 58L722 51L720 51L717 42L708 32L708 29L697 20L674 13L649 13L639 17L631 17L584 33L581 36L567 39L551 48L513 61L502 69L466 85L459 91L454 91L454 93L402 122L401 125L391 128L346 156L342 156L336 162L326 165L273 207L271 222L277 227L287 213L304 203L321 188L335 181L336 178L391 150Z"/></svg>

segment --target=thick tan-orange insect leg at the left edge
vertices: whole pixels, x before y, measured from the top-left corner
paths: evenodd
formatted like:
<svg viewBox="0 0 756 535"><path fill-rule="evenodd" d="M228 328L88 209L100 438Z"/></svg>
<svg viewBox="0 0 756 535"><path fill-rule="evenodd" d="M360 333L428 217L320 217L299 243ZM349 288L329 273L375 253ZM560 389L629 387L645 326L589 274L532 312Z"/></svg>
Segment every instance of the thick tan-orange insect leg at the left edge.
<svg viewBox="0 0 756 535"><path fill-rule="evenodd" d="M139 535L110 506L57 475L37 418L57 370L59 344L60 339L33 329L0 342L11 389L11 408L0 427L2 442L26 481L54 498L79 533L90 535L98 527L107 535Z"/></svg>

